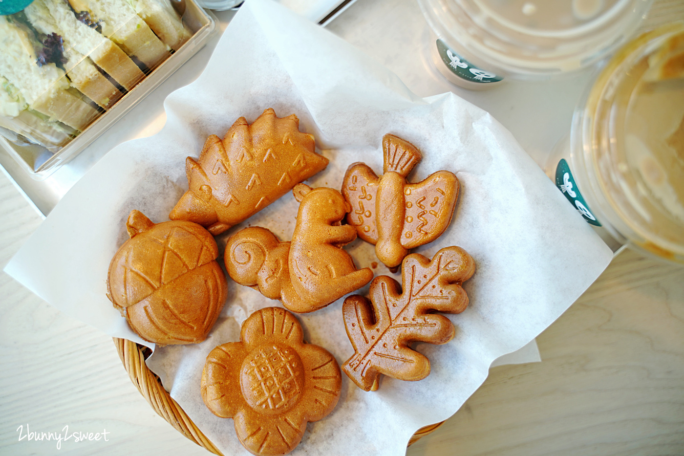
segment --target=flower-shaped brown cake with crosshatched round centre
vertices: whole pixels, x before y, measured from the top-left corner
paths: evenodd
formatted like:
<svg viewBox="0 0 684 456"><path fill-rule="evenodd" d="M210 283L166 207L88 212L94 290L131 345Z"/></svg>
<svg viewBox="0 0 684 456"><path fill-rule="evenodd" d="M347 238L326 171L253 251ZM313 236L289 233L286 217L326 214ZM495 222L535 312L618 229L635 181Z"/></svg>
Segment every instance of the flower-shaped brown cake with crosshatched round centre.
<svg viewBox="0 0 684 456"><path fill-rule="evenodd" d="M245 320L240 342L217 346L202 371L202 399L213 414L233 418L241 444L255 455L285 455L306 422L324 418L339 399L339 364L304 343L299 321L267 307Z"/></svg>

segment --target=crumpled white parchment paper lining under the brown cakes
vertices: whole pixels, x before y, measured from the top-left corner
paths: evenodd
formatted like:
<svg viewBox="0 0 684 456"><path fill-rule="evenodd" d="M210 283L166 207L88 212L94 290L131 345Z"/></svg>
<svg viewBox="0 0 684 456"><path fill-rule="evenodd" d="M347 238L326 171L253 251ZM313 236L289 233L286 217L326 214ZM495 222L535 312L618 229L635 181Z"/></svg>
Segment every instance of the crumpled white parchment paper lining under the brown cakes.
<svg viewBox="0 0 684 456"><path fill-rule="evenodd" d="M109 335L143 342L105 296L109 261L128 237L129 212L168 220L187 188L185 157L197 157L207 136L223 136L239 116L252 122L267 107L281 117L297 114L300 129L313 134L330 159L308 181L313 187L341 188L344 171L356 161L381 173L386 133L423 152L410 180L440 169L456 173L461 192L453 221L417 251L431 257L443 246L458 245L477 264L464 286L468 309L449 316L456 337L441 346L417 344L431 360L428 378L384 377L378 391L363 392L343 376L337 408L308 425L293 455L403 455L412 433L455 413L494 359L533 340L610 262L610 249L486 112L451 93L416 97L386 68L328 31L272 1L248 0L205 72L166 100L163 130L105 155L5 270L63 312ZM220 236L220 249L247 225L289 240L297 207L287 194ZM346 249L358 267L377 262L365 242ZM374 272L389 274L382 264ZM148 366L224 454L248 455L233 421L213 416L202 403L200 375L214 346L239 340L249 314L279 303L235 283L228 284L228 296L205 342L157 348ZM341 302L299 316L306 340L324 346L340 364L353 354Z"/></svg>

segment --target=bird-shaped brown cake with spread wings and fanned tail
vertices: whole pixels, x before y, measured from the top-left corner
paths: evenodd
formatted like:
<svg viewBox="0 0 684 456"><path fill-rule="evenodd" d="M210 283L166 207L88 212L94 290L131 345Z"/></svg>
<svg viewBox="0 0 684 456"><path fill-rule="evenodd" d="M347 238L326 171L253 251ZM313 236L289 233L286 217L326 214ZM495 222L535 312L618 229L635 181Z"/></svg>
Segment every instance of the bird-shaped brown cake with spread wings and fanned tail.
<svg viewBox="0 0 684 456"><path fill-rule="evenodd" d="M397 268L410 249L432 242L451 222L458 197L458 178L441 170L417 183L406 177L422 160L410 142L386 134L382 138L383 175L363 163L345 173L342 194L352 206L347 223L358 237L376 246L376 256Z"/></svg>

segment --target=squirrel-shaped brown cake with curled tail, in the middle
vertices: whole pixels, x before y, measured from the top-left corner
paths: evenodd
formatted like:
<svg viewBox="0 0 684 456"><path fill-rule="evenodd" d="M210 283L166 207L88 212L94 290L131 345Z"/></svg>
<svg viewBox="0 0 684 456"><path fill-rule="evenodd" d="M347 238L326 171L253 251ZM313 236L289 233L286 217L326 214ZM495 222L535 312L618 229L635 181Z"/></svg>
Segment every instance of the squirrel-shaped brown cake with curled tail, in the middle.
<svg viewBox="0 0 684 456"><path fill-rule="evenodd" d="M249 227L226 244L228 275L264 296L280 299L293 312L313 312L358 290L373 279L370 268L360 270L342 246L356 238L356 229L340 225L349 210L332 188L299 183L300 201L291 242L280 242L271 231Z"/></svg>

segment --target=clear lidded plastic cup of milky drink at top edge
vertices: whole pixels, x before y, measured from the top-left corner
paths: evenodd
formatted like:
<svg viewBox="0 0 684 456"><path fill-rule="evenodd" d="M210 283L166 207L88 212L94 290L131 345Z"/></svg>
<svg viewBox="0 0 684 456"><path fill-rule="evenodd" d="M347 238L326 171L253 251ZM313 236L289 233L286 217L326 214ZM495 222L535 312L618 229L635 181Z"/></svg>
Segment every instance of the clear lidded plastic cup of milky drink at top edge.
<svg viewBox="0 0 684 456"><path fill-rule="evenodd" d="M547 79L594 64L629 39L651 3L419 0L435 34L437 68L466 88Z"/></svg>

